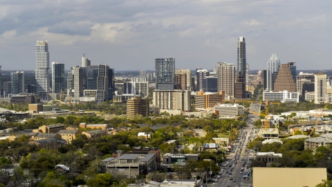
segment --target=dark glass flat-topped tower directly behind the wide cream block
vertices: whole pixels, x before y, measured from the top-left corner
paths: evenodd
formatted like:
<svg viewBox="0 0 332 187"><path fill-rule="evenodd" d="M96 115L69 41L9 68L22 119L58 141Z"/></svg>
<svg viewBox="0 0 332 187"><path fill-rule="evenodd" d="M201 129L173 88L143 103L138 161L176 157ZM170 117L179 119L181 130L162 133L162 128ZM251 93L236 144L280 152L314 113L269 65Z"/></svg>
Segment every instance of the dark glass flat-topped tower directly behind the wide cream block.
<svg viewBox="0 0 332 187"><path fill-rule="evenodd" d="M175 59L156 58L156 89L173 90L175 77Z"/></svg>

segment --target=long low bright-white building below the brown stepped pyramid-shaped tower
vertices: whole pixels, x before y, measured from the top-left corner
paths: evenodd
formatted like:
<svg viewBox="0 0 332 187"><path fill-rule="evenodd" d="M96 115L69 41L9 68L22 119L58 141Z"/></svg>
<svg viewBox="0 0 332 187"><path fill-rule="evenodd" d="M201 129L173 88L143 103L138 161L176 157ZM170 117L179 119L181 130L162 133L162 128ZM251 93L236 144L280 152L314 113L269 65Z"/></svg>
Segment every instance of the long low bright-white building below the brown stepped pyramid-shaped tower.
<svg viewBox="0 0 332 187"><path fill-rule="evenodd" d="M280 100L282 103L299 103L299 93L288 91L266 91L263 92L263 101Z"/></svg>

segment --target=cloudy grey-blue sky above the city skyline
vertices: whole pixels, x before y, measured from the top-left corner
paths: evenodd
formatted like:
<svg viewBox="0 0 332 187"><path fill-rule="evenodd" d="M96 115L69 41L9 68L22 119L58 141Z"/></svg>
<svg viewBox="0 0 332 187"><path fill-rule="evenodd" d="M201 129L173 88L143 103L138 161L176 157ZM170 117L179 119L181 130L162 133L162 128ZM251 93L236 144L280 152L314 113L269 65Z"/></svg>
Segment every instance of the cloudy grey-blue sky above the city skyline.
<svg viewBox="0 0 332 187"><path fill-rule="evenodd" d="M176 69L237 65L246 39L250 70L276 53L297 69L331 69L331 0L1 0L3 70L34 70L35 44L47 40L50 63L65 69L108 64L116 71L154 70L174 57Z"/></svg>

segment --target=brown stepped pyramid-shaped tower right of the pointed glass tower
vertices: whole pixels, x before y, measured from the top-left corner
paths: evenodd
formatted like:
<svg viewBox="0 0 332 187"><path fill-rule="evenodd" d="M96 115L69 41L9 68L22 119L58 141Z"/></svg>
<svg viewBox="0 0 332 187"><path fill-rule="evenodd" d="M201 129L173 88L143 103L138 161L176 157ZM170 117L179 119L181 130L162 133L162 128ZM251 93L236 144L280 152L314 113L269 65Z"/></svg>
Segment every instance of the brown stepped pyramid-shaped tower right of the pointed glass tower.
<svg viewBox="0 0 332 187"><path fill-rule="evenodd" d="M292 63L293 62L282 64L282 67L279 69L277 78L275 79L274 91L296 91L295 80L293 79L293 75L291 72Z"/></svg>

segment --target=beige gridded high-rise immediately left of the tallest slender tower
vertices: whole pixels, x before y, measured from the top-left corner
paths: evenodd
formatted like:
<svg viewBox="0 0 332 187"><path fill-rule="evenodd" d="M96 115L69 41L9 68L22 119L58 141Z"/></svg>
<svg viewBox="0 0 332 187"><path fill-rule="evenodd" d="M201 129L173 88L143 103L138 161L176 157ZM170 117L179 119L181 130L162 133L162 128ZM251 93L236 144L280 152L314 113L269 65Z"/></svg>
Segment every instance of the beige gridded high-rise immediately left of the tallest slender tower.
<svg viewBox="0 0 332 187"><path fill-rule="evenodd" d="M218 62L218 91L225 91L225 95L234 96L234 64Z"/></svg>

